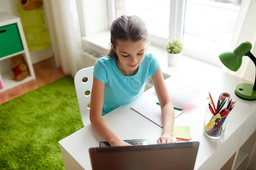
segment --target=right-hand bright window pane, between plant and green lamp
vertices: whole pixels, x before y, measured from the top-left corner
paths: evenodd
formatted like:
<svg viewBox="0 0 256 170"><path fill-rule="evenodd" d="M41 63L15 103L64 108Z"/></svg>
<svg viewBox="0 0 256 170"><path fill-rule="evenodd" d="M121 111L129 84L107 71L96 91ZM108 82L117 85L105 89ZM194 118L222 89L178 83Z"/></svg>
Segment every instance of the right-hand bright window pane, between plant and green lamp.
<svg viewBox="0 0 256 170"><path fill-rule="evenodd" d="M227 51L240 5L241 0L187 0L184 46L217 57Z"/></svg>

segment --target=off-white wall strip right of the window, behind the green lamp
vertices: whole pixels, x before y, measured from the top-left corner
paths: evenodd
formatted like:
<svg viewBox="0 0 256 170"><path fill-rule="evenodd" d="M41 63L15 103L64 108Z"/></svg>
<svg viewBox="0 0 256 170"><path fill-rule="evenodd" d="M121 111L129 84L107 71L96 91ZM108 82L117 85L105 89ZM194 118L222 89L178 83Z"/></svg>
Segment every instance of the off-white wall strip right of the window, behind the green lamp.
<svg viewBox="0 0 256 170"><path fill-rule="evenodd" d="M253 45L251 52L256 56L255 8L256 0L242 0L233 40L230 45L231 50L235 49L239 44L241 44L241 42L249 41ZM243 57L241 68L239 68L238 71L233 72L228 69L226 71L251 82L254 82L255 80L255 65L251 59L246 56Z"/></svg>

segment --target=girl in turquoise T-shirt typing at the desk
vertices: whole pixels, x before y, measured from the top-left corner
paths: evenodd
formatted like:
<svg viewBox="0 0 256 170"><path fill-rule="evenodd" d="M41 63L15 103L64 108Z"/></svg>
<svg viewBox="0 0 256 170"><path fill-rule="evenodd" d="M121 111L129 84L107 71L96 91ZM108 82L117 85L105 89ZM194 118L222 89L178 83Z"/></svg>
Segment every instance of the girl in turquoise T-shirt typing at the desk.
<svg viewBox="0 0 256 170"><path fill-rule="evenodd" d="M128 146L110 129L102 116L143 93L152 77L160 102L163 133L157 143L176 142L173 137L174 109L156 57L145 53L148 31L137 16L123 15L111 25L110 51L94 65L90 122L111 146Z"/></svg>

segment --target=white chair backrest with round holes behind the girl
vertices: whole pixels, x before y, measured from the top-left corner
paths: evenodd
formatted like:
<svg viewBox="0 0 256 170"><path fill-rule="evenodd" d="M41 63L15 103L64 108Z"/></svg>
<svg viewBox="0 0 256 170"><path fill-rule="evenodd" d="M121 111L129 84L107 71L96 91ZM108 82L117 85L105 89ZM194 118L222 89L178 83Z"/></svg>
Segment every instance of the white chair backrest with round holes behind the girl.
<svg viewBox="0 0 256 170"><path fill-rule="evenodd" d="M90 123L90 96L93 87L93 68L79 70L74 78L79 110L84 126Z"/></svg>

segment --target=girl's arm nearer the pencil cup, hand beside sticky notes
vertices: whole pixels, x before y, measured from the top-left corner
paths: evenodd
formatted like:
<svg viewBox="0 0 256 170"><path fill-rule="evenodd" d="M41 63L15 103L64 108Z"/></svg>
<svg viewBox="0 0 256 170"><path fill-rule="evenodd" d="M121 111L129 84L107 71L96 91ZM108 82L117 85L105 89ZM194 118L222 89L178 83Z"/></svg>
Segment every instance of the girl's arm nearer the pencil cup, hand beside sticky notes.
<svg viewBox="0 0 256 170"><path fill-rule="evenodd" d="M163 79L161 68L152 77L157 98L160 103L163 122L163 133L157 140L158 143L174 143L177 142L173 137L174 126L174 108L169 97L166 84Z"/></svg>

